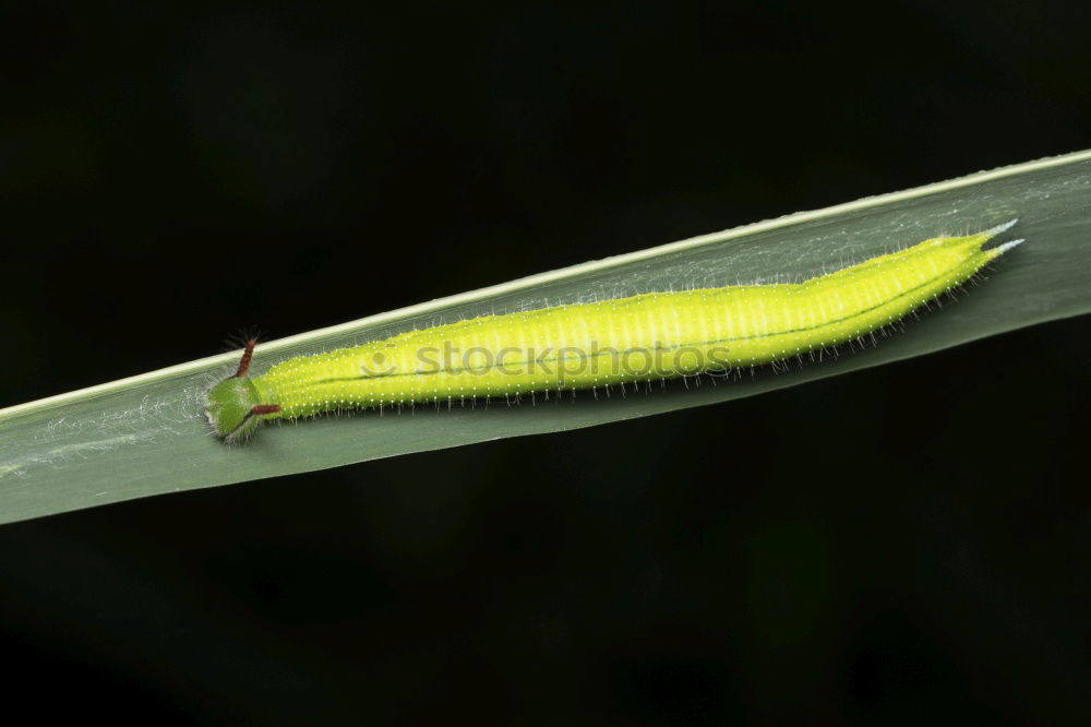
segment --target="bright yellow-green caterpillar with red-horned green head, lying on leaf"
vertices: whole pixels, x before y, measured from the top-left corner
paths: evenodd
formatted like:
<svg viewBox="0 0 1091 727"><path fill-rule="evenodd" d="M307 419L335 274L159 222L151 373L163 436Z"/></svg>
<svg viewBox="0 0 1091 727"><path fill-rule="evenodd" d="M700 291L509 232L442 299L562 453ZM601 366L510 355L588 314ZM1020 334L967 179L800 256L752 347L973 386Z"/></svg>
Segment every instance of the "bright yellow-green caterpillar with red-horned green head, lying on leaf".
<svg viewBox="0 0 1091 727"><path fill-rule="evenodd" d="M847 343L966 283L1019 245L982 245L1011 221L937 237L798 284L731 285L573 303L458 323L281 361L212 388L231 442L264 419L416 402L592 389L769 364Z"/></svg>

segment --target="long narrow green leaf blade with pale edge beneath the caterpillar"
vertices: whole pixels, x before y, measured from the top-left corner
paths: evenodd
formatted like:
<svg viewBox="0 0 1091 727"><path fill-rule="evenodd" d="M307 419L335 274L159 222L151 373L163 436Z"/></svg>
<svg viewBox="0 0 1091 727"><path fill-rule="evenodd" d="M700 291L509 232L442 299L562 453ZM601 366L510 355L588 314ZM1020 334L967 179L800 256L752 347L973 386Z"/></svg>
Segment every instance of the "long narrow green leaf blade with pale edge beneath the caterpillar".
<svg viewBox="0 0 1091 727"><path fill-rule="evenodd" d="M911 321L874 348L788 372L760 370L712 386L672 383L649 395L590 394L536 405L477 404L374 412L266 426L225 446L202 412L207 388L238 354L153 371L0 410L0 522L164 492L590 427L724 402L928 354L1091 310L1091 152L1006 167L595 261L259 346L255 370L519 307L739 282L801 279L943 234L1019 218L1005 239L1026 245L942 312ZM997 365L997 364L991 364Z"/></svg>

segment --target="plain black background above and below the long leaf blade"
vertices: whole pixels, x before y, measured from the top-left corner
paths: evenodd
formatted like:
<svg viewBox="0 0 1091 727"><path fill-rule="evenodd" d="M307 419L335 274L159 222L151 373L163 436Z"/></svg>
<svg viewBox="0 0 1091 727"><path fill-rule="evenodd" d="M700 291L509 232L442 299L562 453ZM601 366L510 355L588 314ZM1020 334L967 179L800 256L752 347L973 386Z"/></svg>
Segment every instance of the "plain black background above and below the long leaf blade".
<svg viewBox="0 0 1091 727"><path fill-rule="evenodd" d="M1091 146L1068 2L26 4L0 405ZM1086 724L1088 332L4 526L4 708Z"/></svg>

